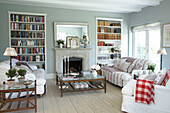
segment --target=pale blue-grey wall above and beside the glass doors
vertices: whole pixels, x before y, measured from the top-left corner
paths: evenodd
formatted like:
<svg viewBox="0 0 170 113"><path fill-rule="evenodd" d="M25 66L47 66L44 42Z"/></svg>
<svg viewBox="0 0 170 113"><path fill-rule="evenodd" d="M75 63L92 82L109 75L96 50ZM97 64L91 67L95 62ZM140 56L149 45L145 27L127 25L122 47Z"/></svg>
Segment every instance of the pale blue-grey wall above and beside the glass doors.
<svg viewBox="0 0 170 113"><path fill-rule="evenodd" d="M170 23L170 0L163 0L159 6L144 8L141 12L131 13L129 16L129 29L147 23L160 22L162 25ZM131 36L131 33L129 33ZM161 35L162 36L162 35ZM162 40L162 39L161 39ZM160 42L162 45L162 41ZM168 55L163 56L163 67L170 68L170 48L166 48Z"/></svg>

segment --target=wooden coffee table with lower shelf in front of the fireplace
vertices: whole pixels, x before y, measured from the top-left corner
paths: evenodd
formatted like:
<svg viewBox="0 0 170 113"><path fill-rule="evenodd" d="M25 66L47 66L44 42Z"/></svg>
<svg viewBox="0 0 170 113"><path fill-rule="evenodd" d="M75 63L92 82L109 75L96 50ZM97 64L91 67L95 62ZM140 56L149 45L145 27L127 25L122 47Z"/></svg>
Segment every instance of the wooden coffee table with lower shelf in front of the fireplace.
<svg viewBox="0 0 170 113"><path fill-rule="evenodd" d="M60 86L61 97L65 92L79 92L79 91L89 91L89 90L104 90L106 93L106 77L98 75L97 77L93 77L93 75L85 75L83 77L76 77L72 79L63 79L65 76L63 74L56 74L56 84ZM92 85L90 81L101 81L100 85ZM72 83L76 82L86 82L88 84L88 88L74 88ZM59 84L58 84L59 83ZM63 87L64 86L64 87Z"/></svg>

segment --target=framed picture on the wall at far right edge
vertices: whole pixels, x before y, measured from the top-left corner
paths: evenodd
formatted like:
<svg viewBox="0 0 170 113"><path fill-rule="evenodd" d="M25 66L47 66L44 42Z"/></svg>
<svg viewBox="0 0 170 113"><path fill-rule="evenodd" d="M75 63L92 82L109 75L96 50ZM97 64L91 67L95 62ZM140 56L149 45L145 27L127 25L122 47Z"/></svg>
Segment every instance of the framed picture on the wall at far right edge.
<svg viewBox="0 0 170 113"><path fill-rule="evenodd" d="M163 48L170 47L170 23L163 25L162 46Z"/></svg>

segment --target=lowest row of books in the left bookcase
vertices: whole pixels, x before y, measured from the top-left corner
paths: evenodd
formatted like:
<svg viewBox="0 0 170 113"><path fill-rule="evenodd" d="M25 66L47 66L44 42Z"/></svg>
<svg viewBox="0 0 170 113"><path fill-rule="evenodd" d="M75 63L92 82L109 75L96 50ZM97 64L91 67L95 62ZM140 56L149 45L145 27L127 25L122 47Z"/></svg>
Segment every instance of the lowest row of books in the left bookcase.
<svg viewBox="0 0 170 113"><path fill-rule="evenodd" d="M16 59L18 59L19 61L45 61L45 56L44 55L35 55L35 56L16 56L14 57Z"/></svg>

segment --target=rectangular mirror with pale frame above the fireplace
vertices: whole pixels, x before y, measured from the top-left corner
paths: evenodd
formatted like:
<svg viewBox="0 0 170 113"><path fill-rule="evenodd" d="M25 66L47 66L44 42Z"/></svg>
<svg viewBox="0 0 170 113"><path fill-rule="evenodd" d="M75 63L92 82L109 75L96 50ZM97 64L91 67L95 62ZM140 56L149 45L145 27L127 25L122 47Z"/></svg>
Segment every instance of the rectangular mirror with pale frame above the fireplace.
<svg viewBox="0 0 170 113"><path fill-rule="evenodd" d="M89 24L54 22L54 46L58 47L57 40L64 40L64 46L67 47L68 37L79 38L80 47L84 44L89 46Z"/></svg>

